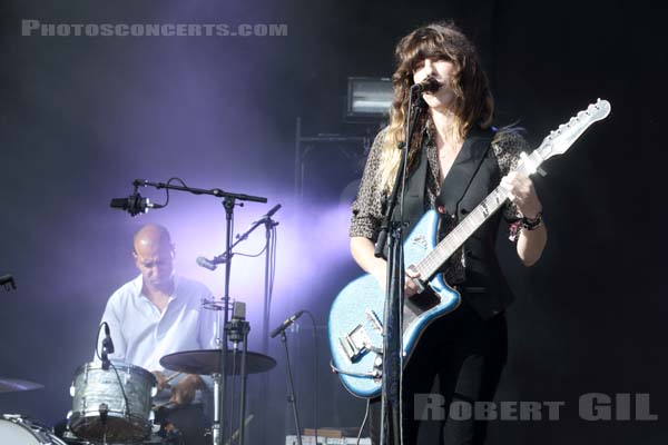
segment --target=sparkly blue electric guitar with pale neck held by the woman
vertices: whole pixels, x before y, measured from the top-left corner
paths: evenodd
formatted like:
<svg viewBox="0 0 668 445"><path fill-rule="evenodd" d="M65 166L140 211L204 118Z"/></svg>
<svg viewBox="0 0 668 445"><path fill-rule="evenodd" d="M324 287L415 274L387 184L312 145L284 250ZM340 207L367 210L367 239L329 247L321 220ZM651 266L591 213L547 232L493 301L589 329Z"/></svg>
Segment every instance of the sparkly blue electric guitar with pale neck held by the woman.
<svg viewBox="0 0 668 445"><path fill-rule="evenodd" d="M598 99L567 123L543 139L531 155L521 154L517 171L532 175L552 156L564 154L596 121L610 113L610 102ZM402 354L404 366L426 327L436 318L453 312L460 304L459 293L436 274L448 258L501 206L507 191L497 187L440 243L440 215L429 210L404 243L404 260L420 273L426 290L404 299ZM358 397L375 397L382 386L383 315L385 293L376 279L364 275L343 288L330 310L328 338L332 367L343 385Z"/></svg>

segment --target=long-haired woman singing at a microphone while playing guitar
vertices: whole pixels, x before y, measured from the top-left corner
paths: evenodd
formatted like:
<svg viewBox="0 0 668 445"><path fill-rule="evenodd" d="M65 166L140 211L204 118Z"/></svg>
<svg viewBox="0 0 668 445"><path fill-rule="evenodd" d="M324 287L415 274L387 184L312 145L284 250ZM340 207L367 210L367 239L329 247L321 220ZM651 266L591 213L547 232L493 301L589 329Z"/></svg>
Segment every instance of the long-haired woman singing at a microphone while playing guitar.
<svg viewBox="0 0 668 445"><path fill-rule="evenodd" d="M493 99L471 41L452 23L434 23L401 39L395 56L390 123L374 140L353 204L351 251L384 288L386 261L374 256L374 243L402 155L397 147L406 137L411 86L435 80L434 91L421 93L426 111L418 120L409 151L404 220L414 225L424 211L436 209L442 238L499 184L509 191L509 201L440 269L462 301L429 326L407 362L403 435L405 444L481 444L485 422L475 416L448 418L449 407L453 402L473 406L494 396L507 358L504 309L512 300L494 251L498 228L502 219L510 224L518 257L531 266L547 243L542 206L531 180L512 171L520 152L529 148L527 142L517 129L491 126ZM421 277L406 271L405 298L418 293L410 278ZM445 418L420 419L425 395L444 400ZM371 402L371 435L376 444L380 405L380 399Z"/></svg>

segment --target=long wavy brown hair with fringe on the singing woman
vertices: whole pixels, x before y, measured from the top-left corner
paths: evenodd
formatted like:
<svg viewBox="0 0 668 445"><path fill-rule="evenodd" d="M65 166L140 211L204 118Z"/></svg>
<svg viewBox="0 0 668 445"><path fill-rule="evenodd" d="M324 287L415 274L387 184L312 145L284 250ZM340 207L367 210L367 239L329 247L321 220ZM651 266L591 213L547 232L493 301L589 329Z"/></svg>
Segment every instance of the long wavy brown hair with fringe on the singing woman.
<svg viewBox="0 0 668 445"><path fill-rule="evenodd" d="M454 92L452 106L455 116L453 136L464 138L473 127L489 128L494 112L494 100L488 78L480 66L473 43L452 23L440 22L418 28L402 38L394 50L396 70L392 76L394 97L390 109L390 123L383 137L381 160L381 181L386 191L392 189L401 150L406 138L406 113L413 81L413 70L426 58L444 59L453 63L453 76L449 86ZM422 135L429 122L428 113L415 128L409 151L409 168L415 164Z"/></svg>

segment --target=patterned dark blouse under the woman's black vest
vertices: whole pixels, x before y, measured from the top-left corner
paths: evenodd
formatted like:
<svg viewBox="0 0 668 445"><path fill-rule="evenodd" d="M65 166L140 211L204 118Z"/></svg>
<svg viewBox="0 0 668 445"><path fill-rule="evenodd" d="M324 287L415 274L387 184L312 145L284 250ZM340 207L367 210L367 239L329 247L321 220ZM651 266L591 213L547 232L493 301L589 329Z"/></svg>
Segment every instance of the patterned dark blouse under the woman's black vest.
<svg viewBox="0 0 668 445"><path fill-rule="evenodd" d="M351 237L364 237L374 243L383 220L385 201L389 198L381 186L380 169L382 155L381 147L383 145L382 142L385 132L386 129L379 132L370 149L364 175L362 176L362 181L360 184L360 190L357 191L357 198L353 202L353 215L350 229ZM435 207L436 198L441 192L441 182L439 182L439 156L436 152L436 144L432 135L433 130L428 130L425 135L426 156L429 159L425 199L428 199L430 208ZM529 151L529 145L517 129L501 129L497 131L494 139L492 140L492 149L494 150L495 158L499 162L501 177L503 177L517 167L520 159L520 152ZM508 201L503 208L503 216L509 222L514 222L519 219L520 214L517 207ZM441 224L445 225L445 227L441 227L441 229L442 234L446 235L456 226L456 220L454 218L442 218ZM518 227L515 224L513 230L517 229ZM514 236L511 236L511 239L514 238ZM465 277L465 256L462 255L462 249L460 248L452 257L450 257L445 265L445 280L450 284L462 283Z"/></svg>

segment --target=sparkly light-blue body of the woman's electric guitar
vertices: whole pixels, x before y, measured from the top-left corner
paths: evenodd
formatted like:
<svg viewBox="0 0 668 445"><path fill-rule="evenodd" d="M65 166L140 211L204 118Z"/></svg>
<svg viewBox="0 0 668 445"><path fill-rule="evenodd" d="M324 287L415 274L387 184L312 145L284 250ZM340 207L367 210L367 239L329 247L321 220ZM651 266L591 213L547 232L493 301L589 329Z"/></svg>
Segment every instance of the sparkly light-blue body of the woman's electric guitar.
<svg viewBox="0 0 668 445"><path fill-rule="evenodd" d="M438 244L439 214L428 211L404 243L404 263L420 263ZM436 318L460 304L460 295L436 274L425 291L406 298L403 308L404 365L420 336ZM334 299L328 338L332 363L346 389L358 397L381 394L383 315L385 293L371 275L351 281ZM346 374L350 373L350 374Z"/></svg>

